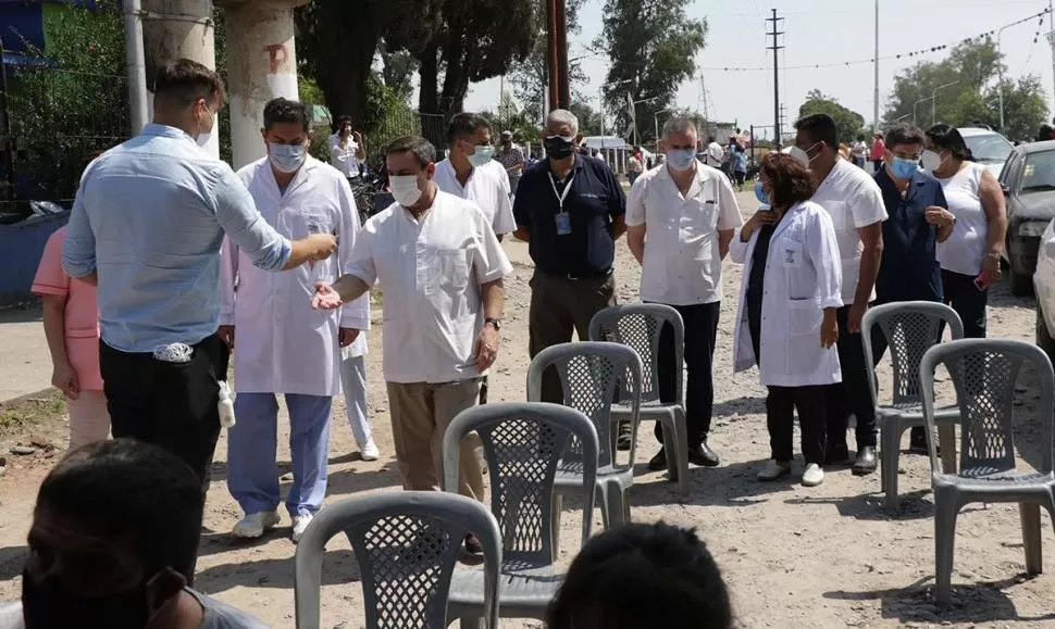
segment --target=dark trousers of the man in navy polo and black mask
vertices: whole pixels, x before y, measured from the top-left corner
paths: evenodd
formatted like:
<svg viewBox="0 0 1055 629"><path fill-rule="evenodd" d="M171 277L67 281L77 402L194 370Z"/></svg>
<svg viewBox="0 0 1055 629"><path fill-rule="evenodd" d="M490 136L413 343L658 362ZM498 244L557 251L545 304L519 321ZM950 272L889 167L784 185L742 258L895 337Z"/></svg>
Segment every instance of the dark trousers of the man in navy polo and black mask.
<svg viewBox="0 0 1055 629"><path fill-rule="evenodd" d="M611 275L569 279L536 271L529 284L528 353L532 358L548 347L571 342L573 331L579 332L580 340L588 340L589 319L616 305L616 281ZM546 369L543 375L542 401L555 404L564 401L555 368Z"/></svg>

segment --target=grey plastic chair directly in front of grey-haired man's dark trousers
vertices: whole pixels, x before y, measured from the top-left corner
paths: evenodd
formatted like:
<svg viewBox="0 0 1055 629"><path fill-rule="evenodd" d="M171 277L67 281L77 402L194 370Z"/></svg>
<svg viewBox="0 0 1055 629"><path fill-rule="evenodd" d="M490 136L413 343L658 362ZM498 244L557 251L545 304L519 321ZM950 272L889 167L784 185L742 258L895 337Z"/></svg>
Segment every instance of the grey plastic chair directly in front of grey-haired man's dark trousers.
<svg viewBox="0 0 1055 629"><path fill-rule="evenodd" d="M659 400L659 335L663 324L674 330L674 401ZM589 322L589 340L606 337L632 348L645 370L641 391L641 419L663 426L668 478L678 482L682 495L688 492L688 428L685 417L685 324L678 311L658 303L633 303L606 307ZM623 400L612 406L612 419L628 419L630 406Z"/></svg>

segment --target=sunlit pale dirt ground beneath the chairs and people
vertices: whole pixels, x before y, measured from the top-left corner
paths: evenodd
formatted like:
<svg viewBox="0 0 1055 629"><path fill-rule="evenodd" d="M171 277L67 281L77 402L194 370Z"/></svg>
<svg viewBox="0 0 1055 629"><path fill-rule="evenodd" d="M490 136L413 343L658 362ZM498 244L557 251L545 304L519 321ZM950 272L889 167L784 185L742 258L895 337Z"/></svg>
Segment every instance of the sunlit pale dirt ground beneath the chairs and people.
<svg viewBox="0 0 1055 629"><path fill-rule="evenodd" d="M754 206L752 194L740 198L744 207ZM494 401L523 399L529 363L531 263L524 244L507 243L507 250L516 272L507 284L504 344L491 377ZM797 476L777 483L755 480L756 470L769 455L769 445L764 389L757 373L732 374L732 320L740 275L737 266L725 265L710 440L722 465L692 469L690 495L681 500L663 474L648 473L644 467L656 449L650 426L646 425L637 456L640 474L630 493L633 519L697 527L722 567L744 627L1055 627L1055 605L1051 603L1055 581L1051 575L1032 579L1023 575L1021 533L1014 506L975 505L965 510L957 529L955 603L948 608L933 604L929 594L934 568L933 503L923 456L902 456L903 507L898 515L884 511L878 475L859 478L848 468L830 469L824 483L814 489L800 487ZM636 301L638 277L637 265L621 242L617 264L620 301ZM384 332L380 312L376 315L368 369L371 416L382 458L375 463L359 461L344 404L335 404L331 503L362 492L392 491L399 485L381 379ZM1011 298L1002 285L992 297L990 315L992 337L1032 340L1032 300ZM881 372L889 391L885 365ZM942 386L947 387L947 381ZM1034 389L1026 378L1016 407L1021 412L1017 444L1022 465L1040 460ZM288 426L283 429L288 433ZM41 430L61 439L64 428ZM0 477L0 601L18 596L36 488L55 455L7 456L8 470ZM288 516L283 513L283 528L258 543L232 541L227 531L240 513L224 485L225 458L224 440L216 452L196 587L274 627L293 627L295 546L288 539ZM280 460L283 471L287 470L288 455L280 452ZM796 471L802 471L800 460ZM1044 543L1055 548L1051 520L1046 514L1043 517ZM594 519L595 530L599 530L596 511ZM568 562L578 548L579 526L575 514L566 513L562 562ZM347 540L335 539L326 557L321 625L326 629L363 626L359 571L348 549ZM507 620L502 627L541 624Z"/></svg>

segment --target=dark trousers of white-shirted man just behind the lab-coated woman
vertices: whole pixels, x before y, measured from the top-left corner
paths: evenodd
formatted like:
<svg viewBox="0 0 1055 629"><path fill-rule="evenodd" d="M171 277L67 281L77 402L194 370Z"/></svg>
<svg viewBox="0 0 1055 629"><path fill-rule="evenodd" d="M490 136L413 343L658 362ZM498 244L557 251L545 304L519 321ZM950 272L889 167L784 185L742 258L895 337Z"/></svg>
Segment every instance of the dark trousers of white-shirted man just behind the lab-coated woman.
<svg viewBox="0 0 1055 629"><path fill-rule="evenodd" d="M860 334L851 334L846 319L849 307L845 305L835 311L839 323L839 364L843 373L843 381L828 388L828 449L832 452L846 450L846 427L849 416L857 417L857 449L876 446L876 407L872 392L868 387L868 378L874 377L874 365L865 364L865 349L861 347ZM877 347L877 335L872 335L872 350L885 351L885 339L880 337ZM876 352L878 361L880 352Z"/></svg>

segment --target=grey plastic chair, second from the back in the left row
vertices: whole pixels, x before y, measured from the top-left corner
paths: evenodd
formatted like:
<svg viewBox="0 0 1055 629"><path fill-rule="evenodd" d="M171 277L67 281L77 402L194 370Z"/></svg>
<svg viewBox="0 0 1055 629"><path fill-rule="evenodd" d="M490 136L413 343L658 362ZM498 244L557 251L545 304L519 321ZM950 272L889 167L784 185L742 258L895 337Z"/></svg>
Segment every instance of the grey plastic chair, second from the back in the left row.
<svg viewBox="0 0 1055 629"><path fill-rule="evenodd" d="M626 491L634 485L634 454L637 450L637 422L641 411L641 356L621 343L579 341L546 348L528 367L528 401L542 400L542 376L549 367L560 375L564 405L580 411L594 424L600 451L597 460L597 495L601 501L605 528L630 521ZM612 400L622 390L630 392L630 423L633 430L630 461L616 464L615 422ZM582 487L582 445L572 438L564 456L557 466L557 500L554 507L554 538L559 541L562 496ZM555 541L555 545L557 542Z"/></svg>

